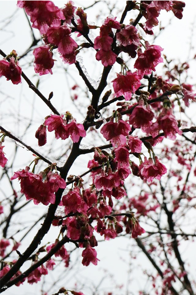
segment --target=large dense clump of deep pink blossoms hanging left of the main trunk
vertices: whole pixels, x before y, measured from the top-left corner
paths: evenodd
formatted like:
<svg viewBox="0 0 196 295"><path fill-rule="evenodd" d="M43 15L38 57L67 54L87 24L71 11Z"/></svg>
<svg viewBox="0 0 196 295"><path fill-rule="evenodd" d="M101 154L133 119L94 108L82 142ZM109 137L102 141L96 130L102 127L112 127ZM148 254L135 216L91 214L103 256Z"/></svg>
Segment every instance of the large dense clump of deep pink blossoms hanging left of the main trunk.
<svg viewBox="0 0 196 295"><path fill-rule="evenodd" d="M55 192L58 188L65 188L66 182L57 173L49 172L45 182L42 181L42 173L34 174L29 167L14 173L10 180L18 178L21 183L21 192L25 194L26 200L33 199L34 204L40 202L44 205L54 204Z"/></svg>

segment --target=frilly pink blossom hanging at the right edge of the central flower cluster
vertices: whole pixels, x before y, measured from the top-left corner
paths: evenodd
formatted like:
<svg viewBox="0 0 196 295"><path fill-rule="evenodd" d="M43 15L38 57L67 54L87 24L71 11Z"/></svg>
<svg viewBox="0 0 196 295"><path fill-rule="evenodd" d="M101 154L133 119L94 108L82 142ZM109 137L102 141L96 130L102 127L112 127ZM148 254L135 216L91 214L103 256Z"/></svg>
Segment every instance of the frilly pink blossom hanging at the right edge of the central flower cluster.
<svg viewBox="0 0 196 295"><path fill-rule="evenodd" d="M161 162L159 162L158 158L155 156L155 163L153 163L153 159L145 157L145 161L140 165L140 173L147 179L148 182L151 182L154 178L161 179L161 177L167 173L167 168Z"/></svg>

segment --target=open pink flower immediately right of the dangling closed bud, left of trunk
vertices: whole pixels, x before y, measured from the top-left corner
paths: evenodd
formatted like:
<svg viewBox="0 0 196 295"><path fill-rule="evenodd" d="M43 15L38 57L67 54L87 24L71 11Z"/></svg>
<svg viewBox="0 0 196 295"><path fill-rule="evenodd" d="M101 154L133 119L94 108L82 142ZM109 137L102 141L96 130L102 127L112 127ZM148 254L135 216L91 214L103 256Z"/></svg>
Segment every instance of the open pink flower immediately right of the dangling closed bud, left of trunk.
<svg viewBox="0 0 196 295"><path fill-rule="evenodd" d="M44 125L48 126L49 132L55 130L56 139L67 139L69 137L67 122L63 115L50 115L46 118Z"/></svg>

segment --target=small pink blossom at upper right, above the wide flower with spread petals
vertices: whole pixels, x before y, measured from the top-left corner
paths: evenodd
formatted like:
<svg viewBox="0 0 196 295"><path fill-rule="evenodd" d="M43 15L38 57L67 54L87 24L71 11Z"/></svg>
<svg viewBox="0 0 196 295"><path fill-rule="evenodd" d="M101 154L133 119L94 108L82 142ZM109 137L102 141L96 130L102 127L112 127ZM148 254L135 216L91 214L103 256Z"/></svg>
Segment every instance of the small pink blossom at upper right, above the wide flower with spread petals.
<svg viewBox="0 0 196 295"><path fill-rule="evenodd" d="M129 44L135 44L139 46L140 37L138 35L138 30L132 25L126 25L123 29L116 34L117 40L121 45L127 46Z"/></svg>

